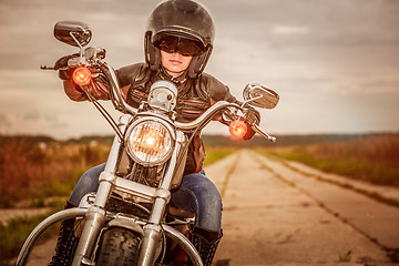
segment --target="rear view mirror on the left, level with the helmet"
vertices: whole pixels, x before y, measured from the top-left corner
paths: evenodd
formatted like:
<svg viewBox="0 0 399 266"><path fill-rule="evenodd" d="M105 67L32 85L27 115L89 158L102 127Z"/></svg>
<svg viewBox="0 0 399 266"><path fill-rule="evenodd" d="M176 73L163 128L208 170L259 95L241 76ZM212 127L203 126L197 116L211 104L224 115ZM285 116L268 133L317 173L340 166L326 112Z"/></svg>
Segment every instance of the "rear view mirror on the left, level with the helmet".
<svg viewBox="0 0 399 266"><path fill-rule="evenodd" d="M54 37L66 44L82 48L89 44L92 32L84 22L60 21L54 25Z"/></svg>

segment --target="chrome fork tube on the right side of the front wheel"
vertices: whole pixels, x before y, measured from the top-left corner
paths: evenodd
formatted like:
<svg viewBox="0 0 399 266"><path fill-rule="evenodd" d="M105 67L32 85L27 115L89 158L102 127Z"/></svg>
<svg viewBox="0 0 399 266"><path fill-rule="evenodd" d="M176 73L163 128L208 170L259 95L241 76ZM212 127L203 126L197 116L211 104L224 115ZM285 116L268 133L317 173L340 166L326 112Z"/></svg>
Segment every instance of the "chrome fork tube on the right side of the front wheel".
<svg viewBox="0 0 399 266"><path fill-rule="evenodd" d="M177 132L177 140L182 137L182 132ZM150 266L154 264L156 247L161 243L162 227L161 222L165 211L165 206L171 200L170 187L172 184L173 173L176 167L176 161L181 144L176 141L175 149L173 151L171 163L164 175L164 178L156 192L156 198L149 218L149 223L144 226L144 236L142 246L140 249L139 265Z"/></svg>

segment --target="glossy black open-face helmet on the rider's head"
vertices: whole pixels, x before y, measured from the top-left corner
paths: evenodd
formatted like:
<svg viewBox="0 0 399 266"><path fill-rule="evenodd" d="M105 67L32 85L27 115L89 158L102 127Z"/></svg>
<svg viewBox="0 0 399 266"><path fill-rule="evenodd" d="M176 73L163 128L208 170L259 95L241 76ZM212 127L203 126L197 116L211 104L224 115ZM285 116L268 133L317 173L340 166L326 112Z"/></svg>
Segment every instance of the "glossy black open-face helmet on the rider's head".
<svg viewBox="0 0 399 266"><path fill-rule="evenodd" d="M167 37L190 40L194 44L195 52L188 66L188 75L197 78L204 71L213 49L215 31L209 12L192 0L167 0L152 11L145 31L144 49L145 61L154 71L161 64L160 45Z"/></svg>

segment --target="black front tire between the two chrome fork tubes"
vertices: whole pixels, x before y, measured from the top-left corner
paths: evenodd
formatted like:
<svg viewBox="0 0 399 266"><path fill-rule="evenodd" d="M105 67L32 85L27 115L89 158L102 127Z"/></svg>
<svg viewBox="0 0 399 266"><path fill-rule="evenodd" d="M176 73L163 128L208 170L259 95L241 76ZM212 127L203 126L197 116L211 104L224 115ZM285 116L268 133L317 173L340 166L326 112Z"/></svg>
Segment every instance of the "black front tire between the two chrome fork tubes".
<svg viewBox="0 0 399 266"><path fill-rule="evenodd" d="M111 228L102 236L96 266L137 265L141 238L124 228Z"/></svg>

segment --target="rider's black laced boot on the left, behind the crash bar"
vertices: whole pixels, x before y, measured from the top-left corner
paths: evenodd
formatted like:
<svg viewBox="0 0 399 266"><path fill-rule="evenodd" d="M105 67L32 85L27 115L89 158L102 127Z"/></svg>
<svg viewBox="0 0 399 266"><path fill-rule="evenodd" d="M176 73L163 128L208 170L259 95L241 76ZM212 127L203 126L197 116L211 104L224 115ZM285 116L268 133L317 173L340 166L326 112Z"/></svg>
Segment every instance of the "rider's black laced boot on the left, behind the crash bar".
<svg viewBox="0 0 399 266"><path fill-rule="evenodd" d="M75 207L66 202L64 209ZM61 223L59 237L55 246L55 255L52 257L49 266L68 266L71 265L73 254L76 248L78 237L74 235L74 218L64 219Z"/></svg>

